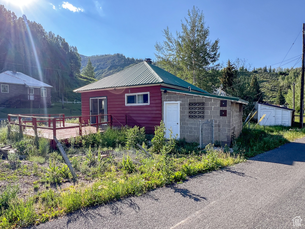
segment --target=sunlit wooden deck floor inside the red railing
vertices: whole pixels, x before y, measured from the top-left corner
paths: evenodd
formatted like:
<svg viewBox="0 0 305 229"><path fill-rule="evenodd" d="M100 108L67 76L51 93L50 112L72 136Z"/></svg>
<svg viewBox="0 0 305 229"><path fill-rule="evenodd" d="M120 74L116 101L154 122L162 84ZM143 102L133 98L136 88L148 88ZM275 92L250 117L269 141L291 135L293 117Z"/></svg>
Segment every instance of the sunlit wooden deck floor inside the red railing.
<svg viewBox="0 0 305 229"><path fill-rule="evenodd" d="M71 137L80 136L78 124L66 123L65 125L66 126L71 126L71 128L70 129L56 129L57 139L66 140L66 139L71 138ZM58 125L56 125L56 127L57 126ZM73 128L72 126L75 126L75 128ZM82 127L82 134L81 135L88 135L88 134L91 134L91 133L96 133L96 127L94 127L94 126L83 126ZM23 131L23 134L30 135L30 136L35 136L35 132L34 132L33 128L26 128ZM38 136L53 140L53 130L52 129L39 129L38 130Z"/></svg>

